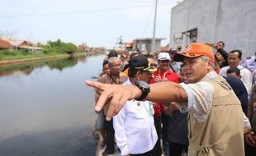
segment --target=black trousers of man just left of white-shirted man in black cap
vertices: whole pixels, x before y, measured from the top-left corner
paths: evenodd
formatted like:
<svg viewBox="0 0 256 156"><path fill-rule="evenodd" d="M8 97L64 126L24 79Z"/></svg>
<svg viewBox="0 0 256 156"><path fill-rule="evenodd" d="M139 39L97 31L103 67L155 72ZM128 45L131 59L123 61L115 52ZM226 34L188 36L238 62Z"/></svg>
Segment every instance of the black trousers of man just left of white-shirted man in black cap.
<svg viewBox="0 0 256 156"><path fill-rule="evenodd" d="M106 120L106 116L104 115L105 118L105 128L106 128L106 149L108 154L112 154L115 151L115 131L113 127L113 119L111 121Z"/></svg>

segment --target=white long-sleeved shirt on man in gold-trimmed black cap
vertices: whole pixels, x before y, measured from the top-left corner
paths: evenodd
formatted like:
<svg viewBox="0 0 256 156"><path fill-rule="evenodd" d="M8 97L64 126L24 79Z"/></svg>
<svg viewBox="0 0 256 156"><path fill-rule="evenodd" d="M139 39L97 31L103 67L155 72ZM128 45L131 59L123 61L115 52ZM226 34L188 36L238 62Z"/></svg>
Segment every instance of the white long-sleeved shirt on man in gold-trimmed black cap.
<svg viewBox="0 0 256 156"><path fill-rule="evenodd" d="M131 85L130 80L123 85ZM144 154L154 148L158 135L153 113L152 103L133 99L113 117L116 145L121 149L121 155Z"/></svg>

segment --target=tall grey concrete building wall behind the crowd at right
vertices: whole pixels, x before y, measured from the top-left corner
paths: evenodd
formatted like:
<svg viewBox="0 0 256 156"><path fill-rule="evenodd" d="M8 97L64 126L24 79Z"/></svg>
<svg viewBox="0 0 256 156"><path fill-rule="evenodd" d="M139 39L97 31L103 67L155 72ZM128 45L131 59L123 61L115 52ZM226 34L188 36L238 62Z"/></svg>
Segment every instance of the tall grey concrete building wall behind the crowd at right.
<svg viewBox="0 0 256 156"><path fill-rule="evenodd" d="M171 11L170 45L191 43L187 30L197 28L197 42L225 42L225 50L256 52L256 0L183 0Z"/></svg>

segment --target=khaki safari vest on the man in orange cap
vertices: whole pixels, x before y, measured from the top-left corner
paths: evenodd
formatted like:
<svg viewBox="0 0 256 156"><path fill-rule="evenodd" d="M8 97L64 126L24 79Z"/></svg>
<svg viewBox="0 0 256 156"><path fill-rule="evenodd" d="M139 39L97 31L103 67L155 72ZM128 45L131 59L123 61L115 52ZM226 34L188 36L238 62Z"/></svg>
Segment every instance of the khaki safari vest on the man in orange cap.
<svg viewBox="0 0 256 156"><path fill-rule="evenodd" d="M214 88L205 122L188 116L189 156L243 156L244 117L239 99L224 78L209 81Z"/></svg>

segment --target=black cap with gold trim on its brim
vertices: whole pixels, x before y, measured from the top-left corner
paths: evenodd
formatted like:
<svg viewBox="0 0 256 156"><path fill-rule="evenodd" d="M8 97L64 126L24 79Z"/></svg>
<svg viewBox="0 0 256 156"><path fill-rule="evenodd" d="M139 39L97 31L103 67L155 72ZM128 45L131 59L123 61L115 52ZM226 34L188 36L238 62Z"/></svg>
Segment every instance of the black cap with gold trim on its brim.
<svg viewBox="0 0 256 156"><path fill-rule="evenodd" d="M149 66L147 57L143 55L131 57L129 61L129 67L139 71L149 71L149 72L156 71L156 68Z"/></svg>

